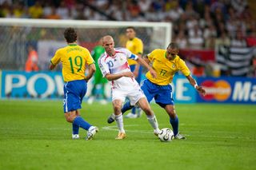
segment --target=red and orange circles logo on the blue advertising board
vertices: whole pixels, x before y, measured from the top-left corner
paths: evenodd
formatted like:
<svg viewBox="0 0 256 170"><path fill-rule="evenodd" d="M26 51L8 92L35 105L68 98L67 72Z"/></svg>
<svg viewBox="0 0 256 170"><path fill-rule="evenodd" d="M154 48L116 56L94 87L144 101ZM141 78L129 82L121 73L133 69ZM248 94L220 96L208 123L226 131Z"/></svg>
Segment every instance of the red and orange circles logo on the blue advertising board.
<svg viewBox="0 0 256 170"><path fill-rule="evenodd" d="M226 101L230 97L231 87L227 81L203 81L201 85L206 89L206 95L201 95L206 101Z"/></svg>

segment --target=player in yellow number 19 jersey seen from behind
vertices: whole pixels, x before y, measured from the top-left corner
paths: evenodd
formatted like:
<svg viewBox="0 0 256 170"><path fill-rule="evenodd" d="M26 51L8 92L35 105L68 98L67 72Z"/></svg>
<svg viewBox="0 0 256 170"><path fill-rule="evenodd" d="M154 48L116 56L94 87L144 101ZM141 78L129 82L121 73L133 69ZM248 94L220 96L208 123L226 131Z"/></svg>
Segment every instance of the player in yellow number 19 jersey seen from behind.
<svg viewBox="0 0 256 170"><path fill-rule="evenodd" d="M62 77L64 85L63 108L66 121L73 125L73 139L78 139L79 127L87 130L86 140L91 140L98 128L90 125L82 119L79 110L81 109L82 98L86 95L87 81L95 72L94 59L88 49L77 44L78 34L73 28L67 28L64 32L67 46L58 49L50 60L50 69L62 62ZM86 65L89 73L86 75Z"/></svg>

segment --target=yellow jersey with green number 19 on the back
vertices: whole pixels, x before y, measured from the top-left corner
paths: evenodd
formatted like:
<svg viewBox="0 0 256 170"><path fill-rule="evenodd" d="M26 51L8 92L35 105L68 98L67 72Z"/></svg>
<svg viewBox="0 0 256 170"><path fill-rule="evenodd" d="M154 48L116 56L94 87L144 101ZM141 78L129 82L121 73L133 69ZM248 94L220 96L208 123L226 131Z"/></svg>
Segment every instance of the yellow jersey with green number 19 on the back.
<svg viewBox="0 0 256 170"><path fill-rule="evenodd" d="M86 78L86 65L94 63L88 49L72 44L58 49L50 60L53 65L62 61L62 76L64 81L75 81Z"/></svg>

